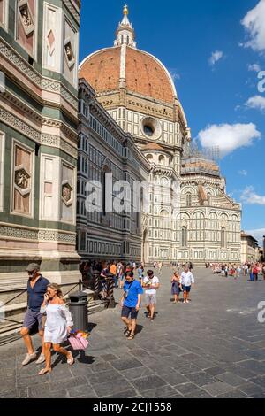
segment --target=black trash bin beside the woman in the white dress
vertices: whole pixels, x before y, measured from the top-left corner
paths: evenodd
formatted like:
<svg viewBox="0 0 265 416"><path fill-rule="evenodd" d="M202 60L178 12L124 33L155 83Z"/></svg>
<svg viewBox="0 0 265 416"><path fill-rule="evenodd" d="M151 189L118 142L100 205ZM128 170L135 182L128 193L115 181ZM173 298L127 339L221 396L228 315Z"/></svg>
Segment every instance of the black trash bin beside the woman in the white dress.
<svg viewBox="0 0 265 416"><path fill-rule="evenodd" d="M69 294L69 310L72 313L73 328L80 331L88 330L87 293L74 292Z"/></svg>

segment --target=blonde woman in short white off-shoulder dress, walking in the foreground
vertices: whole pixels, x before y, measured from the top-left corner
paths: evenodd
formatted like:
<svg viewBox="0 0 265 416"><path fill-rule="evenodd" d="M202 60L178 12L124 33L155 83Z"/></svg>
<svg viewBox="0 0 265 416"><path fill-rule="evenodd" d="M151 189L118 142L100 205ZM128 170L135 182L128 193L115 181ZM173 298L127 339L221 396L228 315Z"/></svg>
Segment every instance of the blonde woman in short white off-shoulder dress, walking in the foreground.
<svg viewBox="0 0 265 416"><path fill-rule="evenodd" d="M66 341L67 335L71 332L73 322L71 312L64 303L62 290L57 283L51 283L47 287L47 293L44 295L41 308L41 313L44 312L47 314L44 327L44 355L46 366L42 368L39 375L51 371L51 345L54 351L61 352L61 354L66 356L69 365L72 365L74 361L72 352L60 346L61 343Z"/></svg>

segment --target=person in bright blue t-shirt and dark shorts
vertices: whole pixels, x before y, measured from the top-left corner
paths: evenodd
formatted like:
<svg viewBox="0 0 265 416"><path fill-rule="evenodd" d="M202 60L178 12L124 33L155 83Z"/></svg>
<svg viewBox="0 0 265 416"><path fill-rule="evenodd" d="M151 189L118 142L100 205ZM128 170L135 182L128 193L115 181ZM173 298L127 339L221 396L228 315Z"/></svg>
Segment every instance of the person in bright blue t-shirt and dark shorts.
<svg viewBox="0 0 265 416"><path fill-rule="evenodd" d="M134 279L133 272L126 272L124 290L124 295L120 300L120 305L122 307L121 316L127 326L125 335L128 340L133 340L137 315L140 310L140 299L143 294L140 282ZM129 319L130 315L131 319Z"/></svg>

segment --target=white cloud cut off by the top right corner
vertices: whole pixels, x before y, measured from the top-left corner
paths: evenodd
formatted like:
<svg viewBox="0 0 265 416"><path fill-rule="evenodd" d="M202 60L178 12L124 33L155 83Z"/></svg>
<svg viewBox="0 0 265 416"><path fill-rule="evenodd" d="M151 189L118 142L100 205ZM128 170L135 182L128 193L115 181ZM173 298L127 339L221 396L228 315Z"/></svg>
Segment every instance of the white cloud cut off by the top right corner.
<svg viewBox="0 0 265 416"><path fill-rule="evenodd" d="M258 52L265 50L265 0L259 3L246 13L241 24L245 27L249 35L249 41L244 43L246 48L252 48Z"/></svg>

